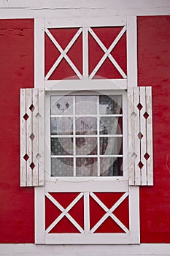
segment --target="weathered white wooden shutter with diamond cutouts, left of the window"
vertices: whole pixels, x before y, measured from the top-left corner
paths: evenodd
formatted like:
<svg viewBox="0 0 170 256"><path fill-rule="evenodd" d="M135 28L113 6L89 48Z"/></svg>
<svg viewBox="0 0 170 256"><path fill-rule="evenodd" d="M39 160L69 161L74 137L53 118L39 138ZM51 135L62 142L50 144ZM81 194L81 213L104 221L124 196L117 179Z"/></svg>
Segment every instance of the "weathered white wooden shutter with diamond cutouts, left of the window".
<svg viewBox="0 0 170 256"><path fill-rule="evenodd" d="M20 186L44 185L44 89L20 89Z"/></svg>

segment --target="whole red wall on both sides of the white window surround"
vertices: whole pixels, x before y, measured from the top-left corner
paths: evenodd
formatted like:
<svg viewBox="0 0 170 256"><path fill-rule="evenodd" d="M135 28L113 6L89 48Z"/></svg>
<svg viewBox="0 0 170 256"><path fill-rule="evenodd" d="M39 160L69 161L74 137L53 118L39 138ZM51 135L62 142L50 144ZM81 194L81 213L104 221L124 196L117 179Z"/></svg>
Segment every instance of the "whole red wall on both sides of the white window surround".
<svg viewBox="0 0 170 256"><path fill-rule="evenodd" d="M154 187L140 189L141 242L170 243L170 16L138 18L139 86L152 86ZM34 243L34 189L20 188L19 89L34 86L34 21L0 20L0 242Z"/></svg>

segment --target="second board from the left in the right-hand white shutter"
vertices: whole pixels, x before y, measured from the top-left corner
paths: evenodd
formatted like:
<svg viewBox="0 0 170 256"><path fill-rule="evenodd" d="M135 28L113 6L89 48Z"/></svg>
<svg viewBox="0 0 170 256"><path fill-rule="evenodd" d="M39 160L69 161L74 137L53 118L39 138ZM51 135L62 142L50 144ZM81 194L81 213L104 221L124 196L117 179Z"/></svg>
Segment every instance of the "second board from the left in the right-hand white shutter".
<svg viewBox="0 0 170 256"><path fill-rule="evenodd" d="M135 185L141 184L141 172L139 169L139 162L140 162L140 140L138 138L140 132L139 126L139 109L137 106L139 105L139 87L134 87L134 108L136 109L136 118L134 121L134 154L136 154L135 158Z"/></svg>

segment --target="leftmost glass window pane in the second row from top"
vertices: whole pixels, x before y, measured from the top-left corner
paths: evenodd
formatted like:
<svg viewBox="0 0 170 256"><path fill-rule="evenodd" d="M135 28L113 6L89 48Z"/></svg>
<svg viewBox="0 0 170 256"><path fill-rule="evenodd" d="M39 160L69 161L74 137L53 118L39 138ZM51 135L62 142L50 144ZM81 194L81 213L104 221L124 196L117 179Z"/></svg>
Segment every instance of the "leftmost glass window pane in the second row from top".
<svg viewBox="0 0 170 256"><path fill-rule="evenodd" d="M73 118L71 117L52 117L51 135L72 135Z"/></svg>

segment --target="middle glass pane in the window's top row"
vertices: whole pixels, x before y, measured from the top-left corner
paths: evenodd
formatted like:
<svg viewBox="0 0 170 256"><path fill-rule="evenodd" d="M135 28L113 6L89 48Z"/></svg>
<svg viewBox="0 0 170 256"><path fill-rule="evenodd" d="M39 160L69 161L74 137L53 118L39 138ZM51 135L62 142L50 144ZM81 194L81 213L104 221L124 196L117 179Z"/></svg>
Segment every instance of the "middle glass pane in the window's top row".
<svg viewBox="0 0 170 256"><path fill-rule="evenodd" d="M97 96L76 96L76 114L93 115L97 113Z"/></svg>

